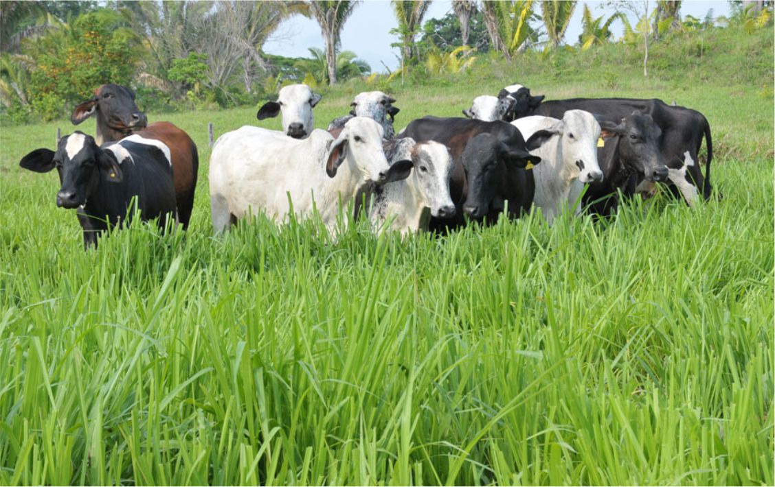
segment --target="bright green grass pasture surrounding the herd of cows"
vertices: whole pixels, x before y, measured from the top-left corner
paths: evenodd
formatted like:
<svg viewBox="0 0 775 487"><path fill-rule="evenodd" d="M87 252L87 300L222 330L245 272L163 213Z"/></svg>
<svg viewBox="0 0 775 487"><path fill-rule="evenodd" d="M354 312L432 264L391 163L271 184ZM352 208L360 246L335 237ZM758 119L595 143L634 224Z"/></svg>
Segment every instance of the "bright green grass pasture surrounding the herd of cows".
<svg viewBox="0 0 775 487"><path fill-rule="evenodd" d="M214 238L207 122L278 120L145 107L198 144L191 228L133 225L83 252L57 177L18 166L72 126L3 127L0 484L773 485L764 36L755 82L495 67L394 89L397 129L515 81L708 117L721 200L657 194L553 228L533 214L402 241L361 221L332 240L257 218ZM316 125L364 86L325 91Z"/></svg>

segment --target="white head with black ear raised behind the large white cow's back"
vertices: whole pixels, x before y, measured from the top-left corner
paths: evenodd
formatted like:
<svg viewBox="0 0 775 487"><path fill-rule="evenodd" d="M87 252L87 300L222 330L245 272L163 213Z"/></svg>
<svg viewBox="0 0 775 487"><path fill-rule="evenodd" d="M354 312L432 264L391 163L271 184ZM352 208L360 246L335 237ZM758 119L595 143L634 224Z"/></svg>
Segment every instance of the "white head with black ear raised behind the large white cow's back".
<svg viewBox="0 0 775 487"><path fill-rule="evenodd" d="M283 132L294 139L305 139L315 128L312 108L322 98L306 84L290 84L277 94L277 101L267 101L256 114L256 118L274 118L283 114Z"/></svg>

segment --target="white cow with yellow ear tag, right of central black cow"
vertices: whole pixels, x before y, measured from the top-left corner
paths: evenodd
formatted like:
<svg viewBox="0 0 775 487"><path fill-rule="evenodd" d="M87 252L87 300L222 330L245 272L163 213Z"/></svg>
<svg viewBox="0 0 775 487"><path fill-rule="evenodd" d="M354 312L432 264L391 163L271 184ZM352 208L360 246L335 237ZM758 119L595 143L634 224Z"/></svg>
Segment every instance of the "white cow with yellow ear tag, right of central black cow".
<svg viewBox="0 0 775 487"><path fill-rule="evenodd" d="M603 180L598 165L597 145L601 132L598 121L588 111L569 110L562 120L532 116L518 118L512 125L525 139L540 130L553 134L538 149L530 151L542 159L532 170L536 180L533 204L541 208L549 224L565 207L575 204L575 214L579 214L581 207L577 200L584 183Z"/></svg>

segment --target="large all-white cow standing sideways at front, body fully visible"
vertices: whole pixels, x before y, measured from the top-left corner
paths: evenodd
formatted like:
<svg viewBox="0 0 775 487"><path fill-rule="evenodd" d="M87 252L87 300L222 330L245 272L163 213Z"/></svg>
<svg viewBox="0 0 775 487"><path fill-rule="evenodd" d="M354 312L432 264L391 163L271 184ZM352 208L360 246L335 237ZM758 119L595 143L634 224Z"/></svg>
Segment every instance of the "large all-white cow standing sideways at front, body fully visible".
<svg viewBox="0 0 775 487"><path fill-rule="evenodd" d="M307 139L245 126L221 135L210 156L210 204L215 232L226 231L232 218L263 211L274 221L291 212L307 216L314 208L329 229L344 206L368 183L408 177L411 161L387 164L382 128L370 118L355 117L334 139L314 130ZM288 201L290 196L291 201Z"/></svg>

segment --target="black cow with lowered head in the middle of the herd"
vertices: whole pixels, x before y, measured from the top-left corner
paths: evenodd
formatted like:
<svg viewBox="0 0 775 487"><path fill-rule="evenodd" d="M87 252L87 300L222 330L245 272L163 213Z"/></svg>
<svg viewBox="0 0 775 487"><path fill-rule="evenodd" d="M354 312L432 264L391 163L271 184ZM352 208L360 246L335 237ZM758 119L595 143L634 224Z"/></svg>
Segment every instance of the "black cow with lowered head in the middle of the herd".
<svg viewBox="0 0 775 487"><path fill-rule="evenodd" d="M449 194L456 206L456 217L432 218L430 228L463 225L463 212L472 218L494 220L504 210L505 201L509 201L511 217L528 211L536 183L525 166L541 161L528 151L550 136L549 132L539 131L525 142L514 125L501 121L428 116L409 123L399 137L441 142L449 148L454 161Z"/></svg>

